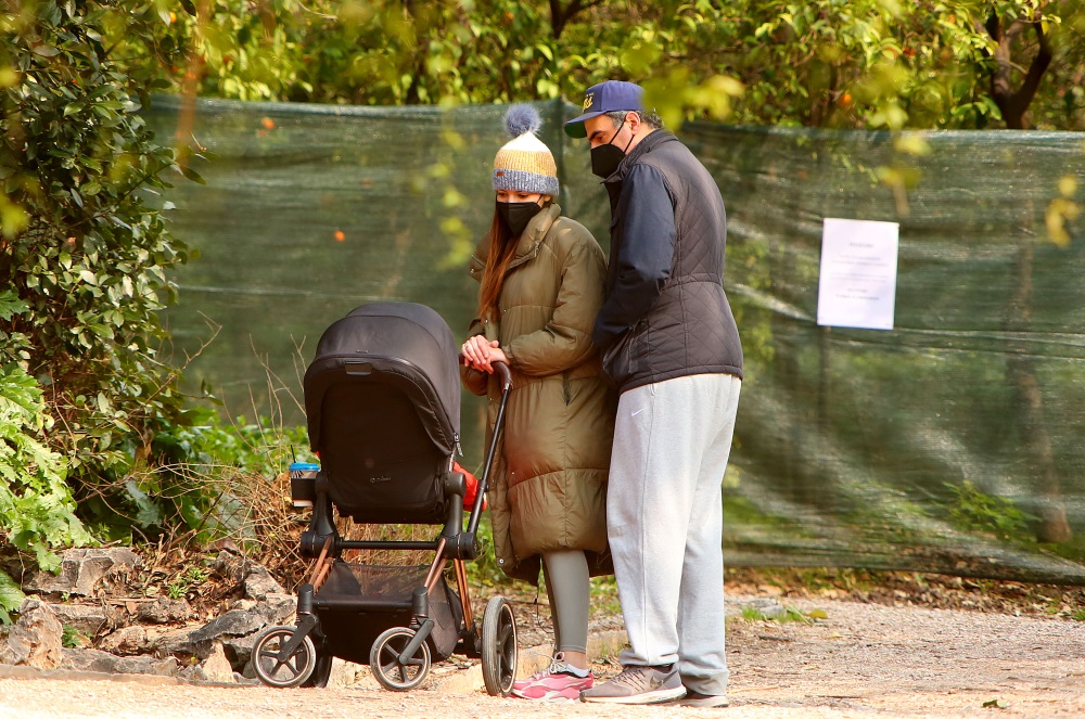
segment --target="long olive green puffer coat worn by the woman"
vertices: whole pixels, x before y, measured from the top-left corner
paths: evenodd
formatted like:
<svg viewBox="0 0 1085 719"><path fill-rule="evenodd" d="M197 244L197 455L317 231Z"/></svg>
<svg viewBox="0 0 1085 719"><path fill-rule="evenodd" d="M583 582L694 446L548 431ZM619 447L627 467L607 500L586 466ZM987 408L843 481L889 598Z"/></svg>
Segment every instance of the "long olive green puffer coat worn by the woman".
<svg viewBox="0 0 1085 719"><path fill-rule="evenodd" d="M602 249L583 226L545 207L527 224L499 298L500 321L475 320L469 335L500 342L512 370L505 432L490 482L498 563L538 583L540 553L580 549L592 574L610 573L607 475L616 394L591 344L603 299ZM486 240L471 258L481 281ZM493 432L500 401L495 377L462 368L464 384L488 394Z"/></svg>

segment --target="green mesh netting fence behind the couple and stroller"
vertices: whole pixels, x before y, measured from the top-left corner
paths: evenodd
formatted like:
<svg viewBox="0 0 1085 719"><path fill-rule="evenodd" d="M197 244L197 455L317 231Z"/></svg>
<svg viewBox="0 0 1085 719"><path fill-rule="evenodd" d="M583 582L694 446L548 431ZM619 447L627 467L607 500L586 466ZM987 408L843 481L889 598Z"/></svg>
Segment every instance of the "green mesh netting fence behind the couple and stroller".
<svg viewBox="0 0 1085 719"><path fill-rule="evenodd" d="M159 99L148 114L159 139L178 108ZM539 108L561 205L605 247L604 192L560 131L574 108ZM355 306L424 303L462 337L503 112L200 101L195 138L215 158L193 168L207 184L166 197L174 233L203 253L166 316L177 361L219 326L189 381L231 414L302 424L299 373ZM1085 583L1083 223L1068 219L1069 244L1049 240L1085 187L1085 136L680 136L727 203L746 352L727 561ZM899 223L893 330L817 325L827 217ZM476 466L484 408L465 400Z"/></svg>

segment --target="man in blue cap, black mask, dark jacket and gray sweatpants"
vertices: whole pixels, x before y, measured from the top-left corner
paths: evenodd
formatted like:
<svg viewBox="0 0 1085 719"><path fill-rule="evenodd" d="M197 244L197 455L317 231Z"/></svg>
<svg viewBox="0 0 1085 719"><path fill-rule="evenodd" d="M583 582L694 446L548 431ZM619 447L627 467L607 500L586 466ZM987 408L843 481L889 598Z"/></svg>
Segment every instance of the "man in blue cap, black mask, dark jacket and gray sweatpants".
<svg viewBox="0 0 1085 719"><path fill-rule="evenodd" d="M587 138L611 203L592 338L621 391L608 536L630 649L585 702L727 706L723 498L742 380L724 294L724 201L631 82L589 88Z"/></svg>

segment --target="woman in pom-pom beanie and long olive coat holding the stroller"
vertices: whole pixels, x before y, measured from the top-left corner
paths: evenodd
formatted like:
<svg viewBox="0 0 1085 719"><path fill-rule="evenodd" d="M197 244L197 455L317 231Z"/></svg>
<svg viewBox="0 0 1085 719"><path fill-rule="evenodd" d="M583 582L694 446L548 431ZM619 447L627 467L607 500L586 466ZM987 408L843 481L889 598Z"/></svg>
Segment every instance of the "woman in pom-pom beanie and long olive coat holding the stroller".
<svg viewBox="0 0 1085 719"><path fill-rule="evenodd" d="M478 317L463 344L463 382L489 395L493 363L512 371L502 445L490 483L494 544L510 577L538 585L541 565L554 620L548 669L522 679L524 698L578 698L595 679L587 657L589 577L609 574L607 473L614 401L591 345L605 260L583 226L553 203L558 171L535 137L529 105L505 117L513 140L494 161L497 203L471 259Z"/></svg>

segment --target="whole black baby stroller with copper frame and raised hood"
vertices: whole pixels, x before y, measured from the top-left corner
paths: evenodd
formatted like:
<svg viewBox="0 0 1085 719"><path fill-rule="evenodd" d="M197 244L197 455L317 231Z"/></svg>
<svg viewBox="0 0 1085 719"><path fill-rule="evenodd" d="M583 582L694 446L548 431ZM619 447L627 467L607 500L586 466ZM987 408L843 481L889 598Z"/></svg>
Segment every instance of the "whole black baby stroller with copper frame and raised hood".
<svg viewBox="0 0 1085 719"><path fill-rule="evenodd" d="M309 444L320 464L291 466L291 496L311 506L303 556L316 558L297 593L295 626L272 627L253 647L253 666L271 686L324 686L332 657L368 664L394 691L420 685L431 663L481 657L486 690L507 696L516 670L511 605L495 596L480 627L464 562L475 532L511 387L501 380L498 420L471 517L463 528L469 477L459 451L460 380L452 333L434 310L374 303L333 323L305 373ZM473 480L473 477L470 477ZM432 541L347 540L333 508L358 524L443 525ZM429 566L376 566L341 558L344 550L432 550ZM445 580L451 561L456 589Z"/></svg>

